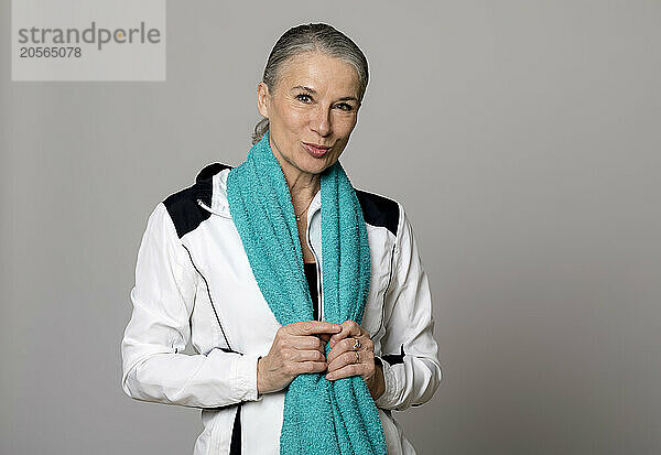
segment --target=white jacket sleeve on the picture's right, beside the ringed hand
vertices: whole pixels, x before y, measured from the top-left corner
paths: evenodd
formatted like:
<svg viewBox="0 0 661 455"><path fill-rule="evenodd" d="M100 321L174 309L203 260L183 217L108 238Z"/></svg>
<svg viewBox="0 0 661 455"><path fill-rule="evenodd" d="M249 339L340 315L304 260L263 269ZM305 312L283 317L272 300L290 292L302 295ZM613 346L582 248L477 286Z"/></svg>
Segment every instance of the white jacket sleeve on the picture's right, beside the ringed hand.
<svg viewBox="0 0 661 455"><path fill-rule="evenodd" d="M386 381L378 408L403 411L429 401L441 383L438 347L427 277L413 228L401 206L391 283L386 294L386 332L379 357Z"/></svg>

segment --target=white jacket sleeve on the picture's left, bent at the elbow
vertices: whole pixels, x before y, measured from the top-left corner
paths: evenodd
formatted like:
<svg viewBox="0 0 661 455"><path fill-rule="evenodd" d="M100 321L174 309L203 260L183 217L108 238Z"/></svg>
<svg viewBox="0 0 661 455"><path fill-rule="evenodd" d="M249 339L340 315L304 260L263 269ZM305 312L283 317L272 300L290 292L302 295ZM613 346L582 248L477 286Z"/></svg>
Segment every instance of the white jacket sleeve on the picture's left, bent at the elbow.
<svg viewBox="0 0 661 455"><path fill-rule="evenodd" d="M261 400L257 356L181 354L191 337L197 272L163 203L151 213L130 292L133 311L121 342L122 389L131 398L192 408Z"/></svg>

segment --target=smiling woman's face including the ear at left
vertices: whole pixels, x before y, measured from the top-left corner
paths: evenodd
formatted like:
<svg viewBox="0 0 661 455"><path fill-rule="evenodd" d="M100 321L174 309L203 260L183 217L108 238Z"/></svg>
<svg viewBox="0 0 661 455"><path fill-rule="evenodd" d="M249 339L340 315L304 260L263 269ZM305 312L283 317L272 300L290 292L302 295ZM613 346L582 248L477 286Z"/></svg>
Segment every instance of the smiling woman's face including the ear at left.
<svg viewBox="0 0 661 455"><path fill-rule="evenodd" d="M285 62L279 76L273 93L258 85L271 150L285 176L318 174L335 164L358 120L358 73L339 58L306 52Z"/></svg>

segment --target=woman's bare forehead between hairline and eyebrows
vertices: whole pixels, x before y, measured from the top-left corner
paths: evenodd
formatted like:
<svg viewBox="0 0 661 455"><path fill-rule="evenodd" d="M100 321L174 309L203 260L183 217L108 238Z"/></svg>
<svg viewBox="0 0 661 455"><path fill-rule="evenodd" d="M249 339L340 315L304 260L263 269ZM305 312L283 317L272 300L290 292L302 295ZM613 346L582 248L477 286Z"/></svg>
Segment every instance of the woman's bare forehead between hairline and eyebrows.
<svg viewBox="0 0 661 455"><path fill-rule="evenodd" d="M278 85L285 90L301 85L317 91L358 96L360 80L350 63L319 52L304 52L282 65Z"/></svg>

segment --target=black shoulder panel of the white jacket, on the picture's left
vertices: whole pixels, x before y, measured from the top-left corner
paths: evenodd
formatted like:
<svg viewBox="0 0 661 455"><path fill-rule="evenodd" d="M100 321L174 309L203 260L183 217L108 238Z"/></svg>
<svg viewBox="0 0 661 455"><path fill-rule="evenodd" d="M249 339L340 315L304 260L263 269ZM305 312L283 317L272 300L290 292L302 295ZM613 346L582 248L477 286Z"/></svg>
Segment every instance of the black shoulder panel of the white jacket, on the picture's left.
<svg viewBox="0 0 661 455"><path fill-rule="evenodd" d="M209 212L197 204L197 199L202 199L202 202L210 207L214 175L225 169L231 167L221 163L208 164L199 171L195 177L194 185L180 189L163 201L180 238L197 228L202 221L212 216Z"/></svg>

